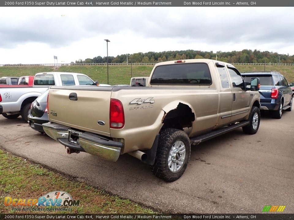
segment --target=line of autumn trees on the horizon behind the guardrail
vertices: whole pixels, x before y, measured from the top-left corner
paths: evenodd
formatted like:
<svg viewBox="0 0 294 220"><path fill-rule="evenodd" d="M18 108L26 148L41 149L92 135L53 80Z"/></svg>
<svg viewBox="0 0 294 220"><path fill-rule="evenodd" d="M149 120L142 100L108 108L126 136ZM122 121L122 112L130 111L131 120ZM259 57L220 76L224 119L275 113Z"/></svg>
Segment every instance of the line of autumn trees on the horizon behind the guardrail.
<svg viewBox="0 0 294 220"><path fill-rule="evenodd" d="M227 63L294 63L294 55L278 54L269 51L260 50L242 50L222 52L217 51L200 51L200 50L180 50L180 51L163 51L148 53L122 54L116 57L108 57L109 63L158 63L169 60L185 59L217 59ZM76 60L75 63L106 63L107 57L93 57L85 60ZM71 62L74 63L74 62Z"/></svg>

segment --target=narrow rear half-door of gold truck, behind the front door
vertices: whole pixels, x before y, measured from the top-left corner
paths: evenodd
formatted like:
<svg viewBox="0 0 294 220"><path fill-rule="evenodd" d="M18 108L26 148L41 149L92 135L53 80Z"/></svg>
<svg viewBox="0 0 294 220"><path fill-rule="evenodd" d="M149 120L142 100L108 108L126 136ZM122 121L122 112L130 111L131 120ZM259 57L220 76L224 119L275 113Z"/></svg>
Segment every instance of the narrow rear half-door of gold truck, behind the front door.
<svg viewBox="0 0 294 220"><path fill-rule="evenodd" d="M228 124L232 117L232 86L230 85L229 76L226 68L222 65L217 65L217 70L220 76L220 102L219 102L219 117L218 125Z"/></svg>

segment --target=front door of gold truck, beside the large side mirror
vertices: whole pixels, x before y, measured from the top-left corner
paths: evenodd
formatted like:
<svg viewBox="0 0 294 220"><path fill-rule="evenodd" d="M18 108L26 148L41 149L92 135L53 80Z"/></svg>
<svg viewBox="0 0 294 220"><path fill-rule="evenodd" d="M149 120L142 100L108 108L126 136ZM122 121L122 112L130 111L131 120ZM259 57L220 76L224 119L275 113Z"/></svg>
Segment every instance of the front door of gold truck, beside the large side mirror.
<svg viewBox="0 0 294 220"><path fill-rule="evenodd" d="M228 67L232 86L232 117L230 122L239 121L247 116L250 101L250 91L246 91L245 83L239 71L234 67Z"/></svg>

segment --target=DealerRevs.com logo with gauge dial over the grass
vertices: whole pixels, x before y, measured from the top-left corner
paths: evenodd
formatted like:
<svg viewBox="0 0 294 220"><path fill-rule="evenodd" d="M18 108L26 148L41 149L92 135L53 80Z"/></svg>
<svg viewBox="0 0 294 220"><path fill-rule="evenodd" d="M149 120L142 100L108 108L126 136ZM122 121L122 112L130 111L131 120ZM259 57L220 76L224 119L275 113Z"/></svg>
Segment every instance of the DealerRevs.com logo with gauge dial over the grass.
<svg viewBox="0 0 294 220"><path fill-rule="evenodd" d="M39 199L4 198L4 206L12 206L12 211L71 211L70 207L79 206L80 202L63 191L46 193Z"/></svg>

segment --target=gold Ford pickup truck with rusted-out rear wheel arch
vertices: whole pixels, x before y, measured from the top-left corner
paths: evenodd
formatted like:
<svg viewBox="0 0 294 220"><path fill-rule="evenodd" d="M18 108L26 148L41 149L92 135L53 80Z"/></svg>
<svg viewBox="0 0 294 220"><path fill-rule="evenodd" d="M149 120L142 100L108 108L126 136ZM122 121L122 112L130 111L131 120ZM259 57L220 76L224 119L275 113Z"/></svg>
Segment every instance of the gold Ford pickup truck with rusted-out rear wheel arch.
<svg viewBox="0 0 294 220"><path fill-rule="evenodd" d="M129 153L166 181L184 173L190 146L260 123L259 79L244 82L231 64L209 59L154 66L147 86L52 86L43 128L67 147L116 161Z"/></svg>

